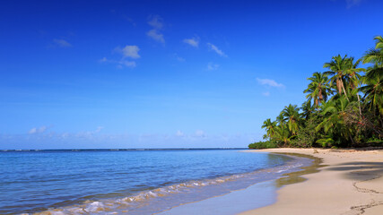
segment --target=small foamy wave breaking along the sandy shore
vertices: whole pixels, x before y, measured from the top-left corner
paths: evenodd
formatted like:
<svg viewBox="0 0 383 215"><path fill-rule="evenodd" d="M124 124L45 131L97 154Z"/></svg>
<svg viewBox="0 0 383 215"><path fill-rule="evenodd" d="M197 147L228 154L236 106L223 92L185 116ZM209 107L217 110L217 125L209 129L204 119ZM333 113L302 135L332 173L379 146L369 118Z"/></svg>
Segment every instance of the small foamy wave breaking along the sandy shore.
<svg viewBox="0 0 383 215"><path fill-rule="evenodd" d="M174 194L190 193L195 189L203 189L206 186L222 185L227 182L235 182L241 179L250 181L252 184L260 182L265 175L279 174L290 171L295 168L303 166L300 162L286 162L282 166L274 168L258 169L255 172L237 174L232 176L221 176L213 179L205 180L193 180L182 182L174 185L167 185L152 190L135 193L134 195L125 196L122 198L104 199L98 201L87 200L77 205L62 207L58 209L49 209L48 211L42 211L33 213L33 215L81 215L81 214L117 214L118 212L126 213L145 205L149 205L150 201L160 201L161 198L166 198ZM276 175L275 175L276 176ZM274 177L273 177L274 178ZM275 179L275 178L274 178ZM117 212L118 211L118 212ZM30 214L24 214L30 215Z"/></svg>

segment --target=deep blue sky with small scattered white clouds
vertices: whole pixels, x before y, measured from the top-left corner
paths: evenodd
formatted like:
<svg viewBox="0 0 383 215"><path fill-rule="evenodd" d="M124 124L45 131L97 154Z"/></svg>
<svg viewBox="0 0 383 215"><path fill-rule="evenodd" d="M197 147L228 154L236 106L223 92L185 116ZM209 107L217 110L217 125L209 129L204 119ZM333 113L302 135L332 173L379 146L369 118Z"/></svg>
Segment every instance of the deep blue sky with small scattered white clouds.
<svg viewBox="0 0 383 215"><path fill-rule="evenodd" d="M246 147L379 0L2 1L0 149Z"/></svg>

